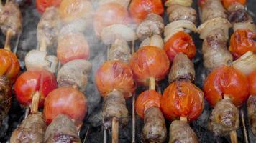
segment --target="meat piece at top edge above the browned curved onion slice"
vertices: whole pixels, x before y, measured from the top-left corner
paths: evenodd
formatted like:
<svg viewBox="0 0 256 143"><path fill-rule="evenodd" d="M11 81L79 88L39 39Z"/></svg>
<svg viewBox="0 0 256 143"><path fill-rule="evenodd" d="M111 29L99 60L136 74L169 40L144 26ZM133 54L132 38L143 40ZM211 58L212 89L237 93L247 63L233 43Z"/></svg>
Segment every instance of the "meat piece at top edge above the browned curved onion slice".
<svg viewBox="0 0 256 143"><path fill-rule="evenodd" d="M217 17L227 19L227 11L222 6L221 0L204 1L201 6L201 23Z"/></svg>

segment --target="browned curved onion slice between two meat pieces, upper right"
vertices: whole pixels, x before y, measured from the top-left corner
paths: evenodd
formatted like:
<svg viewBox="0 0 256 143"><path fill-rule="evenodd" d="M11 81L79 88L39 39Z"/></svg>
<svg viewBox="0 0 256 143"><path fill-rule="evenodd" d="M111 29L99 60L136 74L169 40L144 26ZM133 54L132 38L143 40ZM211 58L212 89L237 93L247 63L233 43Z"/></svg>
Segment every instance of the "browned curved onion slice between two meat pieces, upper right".
<svg viewBox="0 0 256 143"><path fill-rule="evenodd" d="M225 36L228 39L230 27L232 27L232 24L230 24L230 22L227 19L218 17L215 19L208 20L204 22L204 24L201 24L198 27L198 32L200 34L200 38L205 39L206 36L211 34L211 31L214 31L215 29L224 29Z"/></svg>

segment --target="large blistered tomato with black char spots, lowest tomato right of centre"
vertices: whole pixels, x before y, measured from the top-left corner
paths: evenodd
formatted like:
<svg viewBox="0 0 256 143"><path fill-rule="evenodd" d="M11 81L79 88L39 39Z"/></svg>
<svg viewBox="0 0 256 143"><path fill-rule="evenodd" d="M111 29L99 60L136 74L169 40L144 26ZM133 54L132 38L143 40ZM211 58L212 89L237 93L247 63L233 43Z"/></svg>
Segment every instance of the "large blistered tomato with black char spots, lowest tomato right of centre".
<svg viewBox="0 0 256 143"><path fill-rule="evenodd" d="M164 91L161 109L166 118L193 121L204 109L204 92L188 81L175 81Z"/></svg>

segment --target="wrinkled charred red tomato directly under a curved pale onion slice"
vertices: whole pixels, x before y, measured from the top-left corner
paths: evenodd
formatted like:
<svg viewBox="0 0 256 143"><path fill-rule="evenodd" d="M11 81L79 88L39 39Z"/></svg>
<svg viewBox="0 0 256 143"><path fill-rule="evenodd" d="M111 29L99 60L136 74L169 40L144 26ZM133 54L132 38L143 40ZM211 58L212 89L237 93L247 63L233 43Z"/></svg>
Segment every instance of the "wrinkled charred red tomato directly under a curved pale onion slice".
<svg viewBox="0 0 256 143"><path fill-rule="evenodd" d="M171 63L178 53L186 54L189 59L193 59L193 57L196 56L196 46L193 43L193 39L184 31L179 31L170 37L165 43L164 50Z"/></svg>

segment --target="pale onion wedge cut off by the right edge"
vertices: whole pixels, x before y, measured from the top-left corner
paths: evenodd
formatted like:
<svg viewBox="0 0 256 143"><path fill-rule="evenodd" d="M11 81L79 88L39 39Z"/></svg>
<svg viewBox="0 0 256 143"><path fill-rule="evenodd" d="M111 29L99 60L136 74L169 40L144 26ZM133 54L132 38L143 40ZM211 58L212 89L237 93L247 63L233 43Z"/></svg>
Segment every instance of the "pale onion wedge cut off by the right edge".
<svg viewBox="0 0 256 143"><path fill-rule="evenodd" d="M248 75L256 70L256 54L252 53L252 51L247 51L247 53L234 61L232 66L243 74Z"/></svg>

